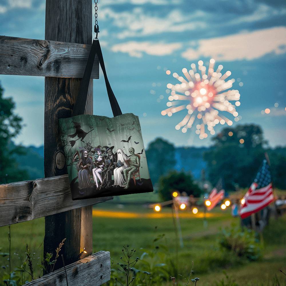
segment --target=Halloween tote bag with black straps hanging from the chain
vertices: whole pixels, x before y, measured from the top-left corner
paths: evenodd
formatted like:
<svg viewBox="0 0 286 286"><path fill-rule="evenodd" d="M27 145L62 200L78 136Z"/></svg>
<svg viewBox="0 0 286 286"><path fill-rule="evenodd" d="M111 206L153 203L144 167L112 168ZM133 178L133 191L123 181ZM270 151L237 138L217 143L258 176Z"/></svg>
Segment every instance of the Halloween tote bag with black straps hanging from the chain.
<svg viewBox="0 0 286 286"><path fill-rule="evenodd" d="M114 117L83 114L95 55ZM122 114L94 40L72 117L59 119L72 199L152 192L138 116Z"/></svg>

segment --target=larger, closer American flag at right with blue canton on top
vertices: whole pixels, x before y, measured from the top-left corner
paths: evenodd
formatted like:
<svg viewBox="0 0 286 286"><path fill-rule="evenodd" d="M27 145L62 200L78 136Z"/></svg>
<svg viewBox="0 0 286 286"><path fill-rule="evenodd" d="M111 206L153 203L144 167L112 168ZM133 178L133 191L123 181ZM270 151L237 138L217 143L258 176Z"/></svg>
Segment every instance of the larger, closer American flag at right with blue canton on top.
<svg viewBox="0 0 286 286"><path fill-rule="evenodd" d="M271 173L266 160L263 160L254 182L242 199L239 215L242 219L262 210L271 202L274 202Z"/></svg>

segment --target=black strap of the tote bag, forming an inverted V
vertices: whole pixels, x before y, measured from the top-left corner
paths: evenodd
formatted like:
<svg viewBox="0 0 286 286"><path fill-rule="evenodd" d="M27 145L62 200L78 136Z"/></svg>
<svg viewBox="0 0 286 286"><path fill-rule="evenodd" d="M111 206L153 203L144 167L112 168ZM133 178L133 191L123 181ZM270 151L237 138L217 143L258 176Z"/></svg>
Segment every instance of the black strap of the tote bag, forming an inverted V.
<svg viewBox="0 0 286 286"><path fill-rule="evenodd" d="M111 109L113 112L113 116L118 116L118 115L122 114L120 107L118 105L118 102L115 98L115 95L111 89L107 75L106 75L106 70L105 70L105 66L104 66L104 61L103 61L103 56L102 56L102 51L101 51L99 41L93 40L92 46L90 49L90 54L88 56L88 62L86 64L86 69L84 71L84 77L82 78L82 81L80 83L80 91L78 93L76 103L74 104L74 110L72 112L72 116L84 114L84 108L86 106L86 98L87 98L87 94L88 94L88 85L90 82L90 75L92 72L94 57L96 54L98 56L98 60L99 60L102 72L104 74L106 90L107 90L110 106L111 106Z"/></svg>

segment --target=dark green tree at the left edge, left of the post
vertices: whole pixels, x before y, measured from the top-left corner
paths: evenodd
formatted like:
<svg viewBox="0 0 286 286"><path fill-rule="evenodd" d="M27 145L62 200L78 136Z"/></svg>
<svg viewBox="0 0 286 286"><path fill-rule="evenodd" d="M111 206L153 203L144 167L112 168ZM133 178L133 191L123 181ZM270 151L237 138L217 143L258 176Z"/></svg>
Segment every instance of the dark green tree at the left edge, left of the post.
<svg viewBox="0 0 286 286"><path fill-rule="evenodd" d="M15 103L12 98L3 98L0 86L0 184L27 179L27 171L20 168L15 157L24 154L22 146L10 149L9 143L22 128L22 118L14 114Z"/></svg>

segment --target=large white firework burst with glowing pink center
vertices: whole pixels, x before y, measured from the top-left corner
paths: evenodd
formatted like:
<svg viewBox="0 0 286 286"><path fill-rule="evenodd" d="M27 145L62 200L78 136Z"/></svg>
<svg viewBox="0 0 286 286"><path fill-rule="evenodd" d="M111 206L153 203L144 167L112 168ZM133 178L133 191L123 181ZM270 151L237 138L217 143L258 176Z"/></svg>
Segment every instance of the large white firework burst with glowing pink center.
<svg viewBox="0 0 286 286"><path fill-rule="evenodd" d="M229 112L235 117L235 121L239 120L236 107L240 106L240 94L238 90L231 90L235 79L227 80L231 75L230 71L222 73L223 66L219 65L215 70L215 60L210 59L208 70L203 65L203 61L198 61L198 70L196 64L191 64L188 71L185 67L182 69L184 76L173 73L179 83L167 84L167 88L171 90L168 108L163 110L163 116L172 116L181 110L187 110L186 116L179 122L175 128L186 133L189 128L196 124L196 134L200 139L206 138L208 134L214 135L214 127L217 124L233 124L232 120L223 116L219 112ZM200 71L200 73L199 73ZM166 71L170 75L169 70ZM235 102L232 104L231 102Z"/></svg>

